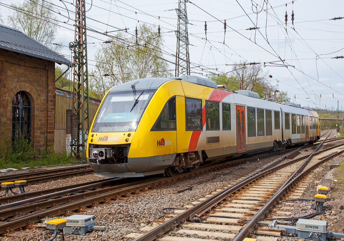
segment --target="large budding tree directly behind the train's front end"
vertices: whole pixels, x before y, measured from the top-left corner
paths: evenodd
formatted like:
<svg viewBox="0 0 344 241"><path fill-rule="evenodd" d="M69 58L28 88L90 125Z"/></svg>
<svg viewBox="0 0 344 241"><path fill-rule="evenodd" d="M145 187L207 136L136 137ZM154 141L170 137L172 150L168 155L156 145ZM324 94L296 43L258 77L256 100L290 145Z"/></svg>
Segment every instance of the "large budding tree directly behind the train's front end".
<svg viewBox="0 0 344 241"><path fill-rule="evenodd" d="M169 65L163 60L163 43L155 28L140 24L137 39L118 32L114 39L100 44L89 75L90 96L102 99L109 88L130 80L172 76L166 71Z"/></svg>

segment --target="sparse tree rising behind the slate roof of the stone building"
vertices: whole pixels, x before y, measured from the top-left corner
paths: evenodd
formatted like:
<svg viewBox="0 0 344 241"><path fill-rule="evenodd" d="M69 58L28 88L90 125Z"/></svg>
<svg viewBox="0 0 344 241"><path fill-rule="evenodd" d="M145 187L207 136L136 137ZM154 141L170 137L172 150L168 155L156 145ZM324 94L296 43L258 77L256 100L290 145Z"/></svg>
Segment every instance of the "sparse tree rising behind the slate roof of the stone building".
<svg viewBox="0 0 344 241"><path fill-rule="evenodd" d="M57 19L50 10L53 5L44 0L25 1L23 4L11 3L12 10L8 23L54 51L61 49L53 45L56 38Z"/></svg>

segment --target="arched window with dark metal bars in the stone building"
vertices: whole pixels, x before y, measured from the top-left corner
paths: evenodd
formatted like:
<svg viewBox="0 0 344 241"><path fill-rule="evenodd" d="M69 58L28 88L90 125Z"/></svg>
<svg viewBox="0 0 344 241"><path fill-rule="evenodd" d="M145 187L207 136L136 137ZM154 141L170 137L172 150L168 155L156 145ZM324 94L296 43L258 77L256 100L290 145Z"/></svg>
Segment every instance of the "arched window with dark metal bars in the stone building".
<svg viewBox="0 0 344 241"><path fill-rule="evenodd" d="M31 141L31 101L19 91L12 100L12 143L23 138Z"/></svg>

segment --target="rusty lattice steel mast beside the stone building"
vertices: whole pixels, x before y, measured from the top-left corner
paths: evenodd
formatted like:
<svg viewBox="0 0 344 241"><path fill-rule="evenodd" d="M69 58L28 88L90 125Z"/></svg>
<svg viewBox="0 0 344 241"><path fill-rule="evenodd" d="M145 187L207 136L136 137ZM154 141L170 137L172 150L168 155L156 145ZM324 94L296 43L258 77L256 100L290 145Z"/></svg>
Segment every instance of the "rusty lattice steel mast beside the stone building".
<svg viewBox="0 0 344 241"><path fill-rule="evenodd" d="M89 98L86 47L85 0L75 2L75 40L73 46L73 113L77 114L77 133L72 136L72 151L77 158L85 158L85 134L89 129Z"/></svg>

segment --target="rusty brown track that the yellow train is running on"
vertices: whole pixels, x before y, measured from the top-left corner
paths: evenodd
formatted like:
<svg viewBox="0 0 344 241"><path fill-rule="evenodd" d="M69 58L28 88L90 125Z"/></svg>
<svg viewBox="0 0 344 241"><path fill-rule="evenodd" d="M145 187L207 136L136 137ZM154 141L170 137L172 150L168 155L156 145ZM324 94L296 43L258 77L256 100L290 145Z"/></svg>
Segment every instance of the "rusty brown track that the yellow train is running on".
<svg viewBox="0 0 344 241"><path fill-rule="evenodd" d="M260 154L257 156L260 157L275 154L276 153ZM290 153L284 155L284 158L289 154ZM2 221L0 223L0 233L6 233L7 230L24 227L28 223L40 222L44 217L52 217L61 214L71 215L74 211L77 212L77 210L85 209L85 207L97 205L99 202L111 203L113 200L147 191L149 188L158 186L159 184L171 182L185 176L206 172L209 169L214 169L220 166L236 165L247 160L252 160L252 157L241 158L239 160L225 163L219 162L208 164L197 168L193 172L182 173L173 177L152 178L140 182L130 182L114 186L111 186L111 182L117 182L121 179L108 178L101 180L101 182L91 182L87 185L81 184L81 187L77 187L75 185L67 186L67 190L66 187L59 187L58 190L60 191L56 191L57 189L46 190L46 193L42 196L39 196L42 194L42 191L37 191L32 194L25 193L1 198L0 200L2 202L6 201L8 203L0 206L2 207L2 210L0 210L0 218ZM28 198L28 195L31 195L31 198ZM12 200L16 201L12 202Z"/></svg>

